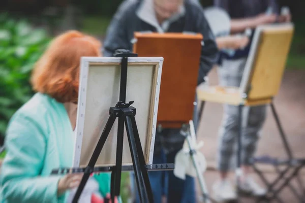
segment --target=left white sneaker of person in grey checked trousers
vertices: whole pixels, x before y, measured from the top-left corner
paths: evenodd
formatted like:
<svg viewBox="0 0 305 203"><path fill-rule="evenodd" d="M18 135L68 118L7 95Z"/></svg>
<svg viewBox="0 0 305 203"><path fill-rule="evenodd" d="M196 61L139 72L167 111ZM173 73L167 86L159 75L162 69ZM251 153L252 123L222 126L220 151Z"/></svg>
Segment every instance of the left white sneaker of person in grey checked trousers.
<svg viewBox="0 0 305 203"><path fill-rule="evenodd" d="M216 182L213 187L214 198L218 202L232 201L237 199L235 188L229 180L221 180Z"/></svg>

